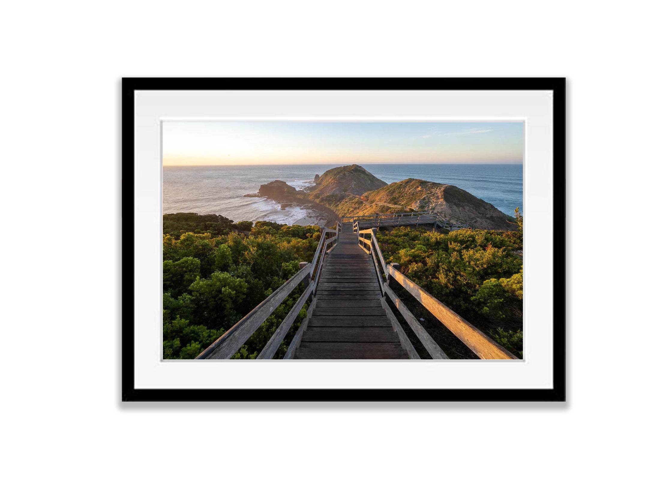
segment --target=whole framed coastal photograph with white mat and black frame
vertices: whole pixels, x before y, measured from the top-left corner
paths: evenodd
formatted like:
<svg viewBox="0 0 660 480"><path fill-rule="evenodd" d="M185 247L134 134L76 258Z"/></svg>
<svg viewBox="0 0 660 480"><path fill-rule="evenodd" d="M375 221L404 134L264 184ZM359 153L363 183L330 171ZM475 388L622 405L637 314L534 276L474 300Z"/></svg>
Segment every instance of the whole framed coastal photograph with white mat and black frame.
<svg viewBox="0 0 660 480"><path fill-rule="evenodd" d="M123 400L564 401L565 85L123 79Z"/></svg>

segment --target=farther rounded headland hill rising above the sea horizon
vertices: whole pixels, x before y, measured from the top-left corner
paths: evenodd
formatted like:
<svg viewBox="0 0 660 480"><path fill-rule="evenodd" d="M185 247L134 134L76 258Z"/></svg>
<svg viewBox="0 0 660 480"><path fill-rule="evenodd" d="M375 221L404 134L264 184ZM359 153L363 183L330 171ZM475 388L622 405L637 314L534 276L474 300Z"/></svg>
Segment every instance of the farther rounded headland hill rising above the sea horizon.
<svg viewBox="0 0 660 480"><path fill-rule="evenodd" d="M321 175L306 197L333 208L352 195L359 196L386 185L359 165L339 166Z"/></svg>

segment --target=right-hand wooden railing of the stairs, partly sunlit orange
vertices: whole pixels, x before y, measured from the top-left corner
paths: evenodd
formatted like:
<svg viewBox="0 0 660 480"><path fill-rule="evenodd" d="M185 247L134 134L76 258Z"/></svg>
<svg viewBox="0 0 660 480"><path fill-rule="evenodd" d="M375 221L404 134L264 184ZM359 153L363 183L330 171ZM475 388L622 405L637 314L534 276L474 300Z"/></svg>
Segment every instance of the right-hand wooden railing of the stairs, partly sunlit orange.
<svg viewBox="0 0 660 480"><path fill-rule="evenodd" d="M401 312L401 316L406 320L407 324L411 327L422 345L424 345L424 348L428 351L432 359L448 359L449 357L447 357L447 354L442 351L438 343L434 341L417 318L411 313L405 304L403 304L401 298L399 298L399 296L391 289L391 281L397 281L403 288L409 291L414 298L420 302L420 304L422 304L433 316L446 326L451 333L465 343L465 345L480 359L517 359L517 357L515 357L510 351L504 349L504 347L485 335L480 329L473 326L470 322L467 322L467 320L451 310L451 308L403 275L403 273L399 271L398 263L385 263L383 254L380 251L380 245L378 245L378 239L376 238L377 231L377 228L359 230L358 227L358 244L365 252L370 253L374 259L374 267L378 274L383 297L385 295L389 296L393 304L397 306L397 309ZM366 234L371 234L369 240L364 238L364 235ZM369 248L366 248L366 246ZM379 261L382 271L387 277L387 283L383 283L382 281L380 269L378 268ZM385 310L387 311L388 309L386 308Z"/></svg>

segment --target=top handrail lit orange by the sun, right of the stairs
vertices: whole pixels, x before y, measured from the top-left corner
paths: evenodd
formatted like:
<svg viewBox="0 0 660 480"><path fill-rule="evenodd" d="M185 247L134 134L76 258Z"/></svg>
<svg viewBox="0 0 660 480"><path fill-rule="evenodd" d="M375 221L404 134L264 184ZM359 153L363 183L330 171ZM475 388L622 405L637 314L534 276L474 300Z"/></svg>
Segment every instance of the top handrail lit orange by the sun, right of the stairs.
<svg viewBox="0 0 660 480"><path fill-rule="evenodd" d="M504 349L502 345L487 337L480 329L467 322L459 314L432 296L426 290L403 275L400 271L387 265L387 273L411 292L426 309L431 312L451 333L467 345L480 359L484 360L517 360L517 357Z"/></svg>

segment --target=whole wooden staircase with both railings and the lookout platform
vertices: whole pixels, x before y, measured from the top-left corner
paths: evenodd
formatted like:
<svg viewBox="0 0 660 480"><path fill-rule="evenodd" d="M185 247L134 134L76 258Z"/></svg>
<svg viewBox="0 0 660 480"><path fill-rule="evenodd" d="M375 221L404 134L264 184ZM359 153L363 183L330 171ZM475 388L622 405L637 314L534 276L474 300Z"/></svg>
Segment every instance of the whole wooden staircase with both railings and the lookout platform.
<svg viewBox="0 0 660 480"><path fill-rule="evenodd" d="M385 296L432 359L446 360L446 353L403 304L390 283L398 283L460 339L480 359L515 360L517 357L434 298L399 271L398 263L386 263L378 245L378 225L417 223L430 212L343 217L335 228L321 228L321 237L311 263L300 270L263 302L216 339L197 356L199 360L227 360L241 348L275 309L298 287L304 291L277 327L257 360L275 357L282 341L309 302L307 316L288 345L288 359L419 359L411 339L385 302ZM438 225L438 219L432 219ZM362 228L363 226L368 228ZM444 223L443 228L455 228ZM456 227L458 228L458 227ZM329 235L329 236L327 236ZM366 238L366 235L370 238ZM387 275L383 282L380 273Z"/></svg>

